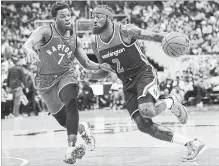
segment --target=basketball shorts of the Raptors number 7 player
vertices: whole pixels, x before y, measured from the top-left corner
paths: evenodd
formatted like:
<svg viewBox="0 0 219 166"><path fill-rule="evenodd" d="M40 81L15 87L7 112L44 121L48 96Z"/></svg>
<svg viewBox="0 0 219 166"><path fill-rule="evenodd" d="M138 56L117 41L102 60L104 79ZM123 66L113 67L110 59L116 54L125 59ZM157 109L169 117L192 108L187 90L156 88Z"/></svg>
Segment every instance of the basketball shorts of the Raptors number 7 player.
<svg viewBox="0 0 219 166"><path fill-rule="evenodd" d="M35 78L36 88L39 95L45 101L48 111L51 114L58 113L64 103L59 97L60 91L68 84L78 84L75 71L69 70L59 76L57 75L40 75Z"/></svg>

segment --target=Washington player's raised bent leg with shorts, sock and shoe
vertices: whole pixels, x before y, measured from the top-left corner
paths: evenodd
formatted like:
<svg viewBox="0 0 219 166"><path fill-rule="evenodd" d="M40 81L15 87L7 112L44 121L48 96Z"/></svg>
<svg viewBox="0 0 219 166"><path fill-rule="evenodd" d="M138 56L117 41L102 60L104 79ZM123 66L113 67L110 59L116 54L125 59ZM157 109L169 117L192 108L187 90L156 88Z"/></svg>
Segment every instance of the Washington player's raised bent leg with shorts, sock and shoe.
<svg viewBox="0 0 219 166"><path fill-rule="evenodd" d="M150 76L150 73L143 73L137 82L136 88L138 108L143 117L153 118L166 109L171 109L182 124L187 122L187 110L174 94L170 94L167 99L158 100L160 90L155 74Z"/></svg>

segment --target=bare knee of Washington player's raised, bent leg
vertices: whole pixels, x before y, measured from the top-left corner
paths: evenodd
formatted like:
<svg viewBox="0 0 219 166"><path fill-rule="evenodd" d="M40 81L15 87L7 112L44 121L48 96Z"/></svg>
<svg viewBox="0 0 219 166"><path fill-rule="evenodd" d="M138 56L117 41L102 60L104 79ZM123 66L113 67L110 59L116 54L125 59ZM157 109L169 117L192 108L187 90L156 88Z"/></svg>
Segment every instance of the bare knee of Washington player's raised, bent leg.
<svg viewBox="0 0 219 166"><path fill-rule="evenodd" d="M138 105L140 114L145 118L153 118L156 116L154 103L143 103Z"/></svg>

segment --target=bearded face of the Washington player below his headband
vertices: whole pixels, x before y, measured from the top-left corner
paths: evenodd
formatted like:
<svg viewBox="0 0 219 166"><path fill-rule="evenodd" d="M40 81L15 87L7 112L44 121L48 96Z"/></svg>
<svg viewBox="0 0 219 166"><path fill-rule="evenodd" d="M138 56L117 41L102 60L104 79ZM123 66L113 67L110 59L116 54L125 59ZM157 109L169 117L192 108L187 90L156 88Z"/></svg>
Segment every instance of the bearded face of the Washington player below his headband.
<svg viewBox="0 0 219 166"><path fill-rule="evenodd" d="M100 34L108 26L107 16L100 13L94 13L93 18L93 33Z"/></svg>

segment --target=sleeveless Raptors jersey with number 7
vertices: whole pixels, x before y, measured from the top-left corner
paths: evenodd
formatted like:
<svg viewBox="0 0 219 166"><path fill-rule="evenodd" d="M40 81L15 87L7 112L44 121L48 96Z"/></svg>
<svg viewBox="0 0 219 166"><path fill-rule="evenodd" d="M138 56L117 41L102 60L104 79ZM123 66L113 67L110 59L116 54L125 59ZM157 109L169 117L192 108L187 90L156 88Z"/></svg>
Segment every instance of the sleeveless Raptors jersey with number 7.
<svg viewBox="0 0 219 166"><path fill-rule="evenodd" d="M72 60L76 49L76 34L71 37L63 37L51 24L51 38L39 46L37 50L40 62L38 62L38 74L59 74L72 68Z"/></svg>

